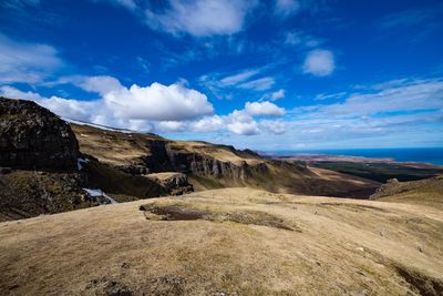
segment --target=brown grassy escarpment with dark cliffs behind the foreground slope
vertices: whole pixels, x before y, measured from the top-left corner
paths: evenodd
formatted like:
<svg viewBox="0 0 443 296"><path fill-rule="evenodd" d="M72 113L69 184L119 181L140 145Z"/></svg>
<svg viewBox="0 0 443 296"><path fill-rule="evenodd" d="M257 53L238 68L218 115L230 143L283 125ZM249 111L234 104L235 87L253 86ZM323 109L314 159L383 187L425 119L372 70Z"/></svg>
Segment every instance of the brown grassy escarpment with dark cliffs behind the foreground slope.
<svg viewBox="0 0 443 296"><path fill-rule="evenodd" d="M147 167L152 173L179 170L188 175L196 191L248 186L281 193L368 197L380 185L331 171L313 172L301 163L267 160L228 145L71 125L80 151L101 163L140 172ZM178 164L173 165L174 161ZM212 171L215 166L220 167L217 174Z"/></svg>

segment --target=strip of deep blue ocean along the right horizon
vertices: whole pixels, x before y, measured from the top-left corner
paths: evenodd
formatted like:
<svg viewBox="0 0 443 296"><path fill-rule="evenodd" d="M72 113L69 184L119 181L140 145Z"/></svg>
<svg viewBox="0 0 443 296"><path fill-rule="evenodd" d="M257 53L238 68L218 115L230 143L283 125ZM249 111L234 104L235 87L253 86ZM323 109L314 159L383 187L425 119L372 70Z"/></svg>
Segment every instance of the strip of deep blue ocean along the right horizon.
<svg viewBox="0 0 443 296"><path fill-rule="evenodd" d="M392 159L398 162L420 162L443 165L443 147L422 149L347 149L347 150L309 150L309 151L272 151L276 154L316 153L327 155L363 156Z"/></svg>

